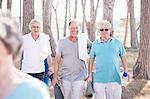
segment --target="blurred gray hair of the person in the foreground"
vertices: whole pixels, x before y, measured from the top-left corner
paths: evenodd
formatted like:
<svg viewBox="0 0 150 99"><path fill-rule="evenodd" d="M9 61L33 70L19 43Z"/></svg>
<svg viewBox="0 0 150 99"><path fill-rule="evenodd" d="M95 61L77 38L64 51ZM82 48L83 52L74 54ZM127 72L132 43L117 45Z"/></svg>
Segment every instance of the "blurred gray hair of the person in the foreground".
<svg viewBox="0 0 150 99"><path fill-rule="evenodd" d="M8 15L2 15L0 12L0 40L13 58L18 55L22 45L22 33L19 25Z"/></svg>

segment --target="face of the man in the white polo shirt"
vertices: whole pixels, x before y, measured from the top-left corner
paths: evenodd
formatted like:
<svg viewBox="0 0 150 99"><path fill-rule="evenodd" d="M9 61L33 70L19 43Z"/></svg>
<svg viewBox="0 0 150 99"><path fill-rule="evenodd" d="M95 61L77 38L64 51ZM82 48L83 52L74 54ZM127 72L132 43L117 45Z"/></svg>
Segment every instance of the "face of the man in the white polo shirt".
<svg viewBox="0 0 150 99"><path fill-rule="evenodd" d="M31 33L39 35L41 32L41 26L38 22L33 22L31 24Z"/></svg>

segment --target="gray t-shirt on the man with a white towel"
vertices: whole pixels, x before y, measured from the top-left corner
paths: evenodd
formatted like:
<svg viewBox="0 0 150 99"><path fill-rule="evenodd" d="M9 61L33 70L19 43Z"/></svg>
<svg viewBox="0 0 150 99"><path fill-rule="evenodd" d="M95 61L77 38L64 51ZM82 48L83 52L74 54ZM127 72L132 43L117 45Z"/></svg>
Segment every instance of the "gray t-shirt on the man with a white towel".
<svg viewBox="0 0 150 99"><path fill-rule="evenodd" d="M68 37L60 40L57 53L61 54L61 79L69 81L84 80L87 74L85 62L79 59L78 42L71 42Z"/></svg>

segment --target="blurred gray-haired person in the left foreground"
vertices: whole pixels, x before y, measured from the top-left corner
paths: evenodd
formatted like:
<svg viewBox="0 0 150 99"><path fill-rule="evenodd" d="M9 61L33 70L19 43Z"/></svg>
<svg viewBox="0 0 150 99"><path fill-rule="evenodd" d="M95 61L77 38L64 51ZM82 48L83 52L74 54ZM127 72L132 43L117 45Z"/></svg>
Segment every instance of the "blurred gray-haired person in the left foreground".
<svg viewBox="0 0 150 99"><path fill-rule="evenodd" d="M0 99L50 99L43 82L15 68L21 44L17 23L0 13Z"/></svg>

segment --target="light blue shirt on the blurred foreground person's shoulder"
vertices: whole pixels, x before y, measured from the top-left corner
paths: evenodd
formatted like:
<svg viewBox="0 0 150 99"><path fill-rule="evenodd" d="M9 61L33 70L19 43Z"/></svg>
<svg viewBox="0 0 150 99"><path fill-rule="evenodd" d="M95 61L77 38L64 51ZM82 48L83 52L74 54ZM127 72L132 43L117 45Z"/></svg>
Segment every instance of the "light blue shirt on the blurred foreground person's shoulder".
<svg viewBox="0 0 150 99"><path fill-rule="evenodd" d="M6 99L50 99L48 87L37 79L25 79Z"/></svg>

